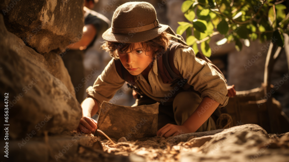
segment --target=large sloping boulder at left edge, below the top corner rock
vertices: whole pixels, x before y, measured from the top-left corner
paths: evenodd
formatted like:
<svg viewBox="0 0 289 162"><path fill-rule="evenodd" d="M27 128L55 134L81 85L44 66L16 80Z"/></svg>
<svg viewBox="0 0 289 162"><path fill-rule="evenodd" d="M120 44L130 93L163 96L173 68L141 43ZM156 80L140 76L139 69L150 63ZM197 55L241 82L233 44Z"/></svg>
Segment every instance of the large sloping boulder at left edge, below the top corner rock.
<svg viewBox="0 0 289 162"><path fill-rule="evenodd" d="M81 118L76 98L51 75L41 54L6 30L2 15L0 24L0 98L9 100L9 140L76 128Z"/></svg>

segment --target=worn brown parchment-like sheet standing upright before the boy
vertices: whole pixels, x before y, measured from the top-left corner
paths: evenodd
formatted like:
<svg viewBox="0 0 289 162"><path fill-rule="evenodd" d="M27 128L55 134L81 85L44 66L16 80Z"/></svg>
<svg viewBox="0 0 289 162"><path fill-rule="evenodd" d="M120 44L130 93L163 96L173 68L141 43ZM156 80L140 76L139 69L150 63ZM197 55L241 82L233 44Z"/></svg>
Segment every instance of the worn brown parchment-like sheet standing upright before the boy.
<svg viewBox="0 0 289 162"><path fill-rule="evenodd" d="M111 138L137 140L157 134L159 103L142 106L101 104L97 127ZM99 134L101 135L101 134Z"/></svg>

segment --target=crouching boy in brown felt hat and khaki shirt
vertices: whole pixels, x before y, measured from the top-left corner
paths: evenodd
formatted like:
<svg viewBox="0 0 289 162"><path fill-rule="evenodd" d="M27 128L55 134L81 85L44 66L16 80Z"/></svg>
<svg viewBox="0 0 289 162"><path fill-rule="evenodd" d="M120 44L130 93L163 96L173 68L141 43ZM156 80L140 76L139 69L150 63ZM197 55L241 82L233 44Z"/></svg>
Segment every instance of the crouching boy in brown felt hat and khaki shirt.
<svg viewBox="0 0 289 162"><path fill-rule="evenodd" d="M192 48L182 46L175 49L173 59L182 79L164 82L160 73L163 66L158 65L158 60L171 45L167 29L167 25L158 23L150 3L128 2L116 9L112 27L102 35L106 41L102 47L113 59L86 90L88 97L81 103L79 130L91 133L97 129L97 121L90 117L99 113L101 103L112 99L125 83L120 68L133 77L132 84L142 96L136 105L160 103L157 135L169 137L216 129L210 116L229 98L224 78L207 62L196 58Z"/></svg>

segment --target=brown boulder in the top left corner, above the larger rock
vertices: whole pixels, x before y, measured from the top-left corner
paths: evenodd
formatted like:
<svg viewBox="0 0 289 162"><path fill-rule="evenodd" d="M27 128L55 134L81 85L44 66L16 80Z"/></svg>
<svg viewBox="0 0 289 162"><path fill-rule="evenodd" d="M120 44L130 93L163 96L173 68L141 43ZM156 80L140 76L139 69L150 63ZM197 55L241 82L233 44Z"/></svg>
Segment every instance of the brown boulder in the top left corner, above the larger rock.
<svg viewBox="0 0 289 162"><path fill-rule="evenodd" d="M5 25L38 53L64 49L81 38L83 0L1 2Z"/></svg>

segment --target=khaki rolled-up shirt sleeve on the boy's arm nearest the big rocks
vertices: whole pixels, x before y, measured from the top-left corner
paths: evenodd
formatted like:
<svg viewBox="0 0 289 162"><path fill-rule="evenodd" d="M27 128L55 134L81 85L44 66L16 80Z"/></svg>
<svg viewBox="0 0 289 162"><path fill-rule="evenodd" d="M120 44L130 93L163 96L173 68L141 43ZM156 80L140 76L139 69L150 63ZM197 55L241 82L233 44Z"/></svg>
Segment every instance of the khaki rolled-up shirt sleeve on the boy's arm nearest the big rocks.
<svg viewBox="0 0 289 162"><path fill-rule="evenodd" d="M89 86L86 89L87 97L92 97L99 103L99 106L103 101L108 102L112 99L118 89L120 89L125 80L123 80L117 73L114 65L114 59L112 59L101 75L97 77L93 86ZM100 108L97 113L100 112Z"/></svg>

